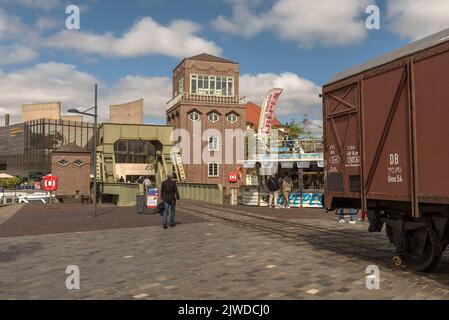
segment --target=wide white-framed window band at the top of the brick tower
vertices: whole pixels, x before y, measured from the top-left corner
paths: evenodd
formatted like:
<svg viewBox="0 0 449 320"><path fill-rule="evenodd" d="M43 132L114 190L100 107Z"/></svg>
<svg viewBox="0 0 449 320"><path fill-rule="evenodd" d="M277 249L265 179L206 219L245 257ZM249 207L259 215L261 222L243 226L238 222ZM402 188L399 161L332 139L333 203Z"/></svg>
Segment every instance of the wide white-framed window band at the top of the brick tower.
<svg viewBox="0 0 449 320"><path fill-rule="evenodd" d="M214 96L234 96L234 77L192 74L190 93Z"/></svg>

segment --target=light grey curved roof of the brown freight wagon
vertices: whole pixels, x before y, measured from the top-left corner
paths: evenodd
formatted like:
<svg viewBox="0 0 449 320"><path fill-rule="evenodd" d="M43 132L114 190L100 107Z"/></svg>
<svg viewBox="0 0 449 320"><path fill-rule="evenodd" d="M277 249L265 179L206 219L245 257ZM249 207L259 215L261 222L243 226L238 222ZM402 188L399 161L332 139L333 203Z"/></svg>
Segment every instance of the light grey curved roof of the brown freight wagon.
<svg viewBox="0 0 449 320"><path fill-rule="evenodd" d="M449 28L336 74L325 86L449 41Z"/></svg>

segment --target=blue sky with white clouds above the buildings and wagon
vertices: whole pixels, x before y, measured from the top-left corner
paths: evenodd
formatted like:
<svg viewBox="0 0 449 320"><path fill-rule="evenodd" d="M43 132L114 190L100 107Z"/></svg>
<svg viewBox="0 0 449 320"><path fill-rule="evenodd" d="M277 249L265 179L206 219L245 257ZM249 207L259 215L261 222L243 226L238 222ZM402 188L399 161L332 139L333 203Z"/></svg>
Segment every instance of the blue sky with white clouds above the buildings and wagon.
<svg viewBox="0 0 449 320"><path fill-rule="evenodd" d="M66 28L69 5L79 30ZM379 29L366 28L370 5ZM173 68L206 52L239 63L247 100L281 87L278 118L319 126L333 75L448 27L448 0L0 0L0 115L90 107L98 83L102 120L110 104L144 98L145 121L164 123Z"/></svg>

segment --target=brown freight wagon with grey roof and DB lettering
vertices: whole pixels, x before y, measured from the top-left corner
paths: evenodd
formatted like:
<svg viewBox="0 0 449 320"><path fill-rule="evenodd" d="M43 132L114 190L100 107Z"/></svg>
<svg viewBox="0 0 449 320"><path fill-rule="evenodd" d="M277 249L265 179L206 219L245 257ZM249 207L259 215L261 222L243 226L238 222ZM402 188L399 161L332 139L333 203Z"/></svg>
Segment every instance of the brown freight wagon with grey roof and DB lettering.
<svg viewBox="0 0 449 320"><path fill-rule="evenodd" d="M325 207L360 208L403 262L429 271L449 241L449 29L323 87Z"/></svg>

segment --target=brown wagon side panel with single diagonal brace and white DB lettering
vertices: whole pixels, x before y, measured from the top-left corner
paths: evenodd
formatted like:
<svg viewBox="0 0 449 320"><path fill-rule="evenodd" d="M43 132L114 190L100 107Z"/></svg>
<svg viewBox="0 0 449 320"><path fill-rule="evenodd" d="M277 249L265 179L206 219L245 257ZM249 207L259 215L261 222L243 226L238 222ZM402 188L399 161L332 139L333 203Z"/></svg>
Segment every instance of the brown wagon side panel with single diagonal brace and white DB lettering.
<svg viewBox="0 0 449 320"><path fill-rule="evenodd" d="M368 201L411 199L408 82L407 65L362 80L363 176Z"/></svg>

